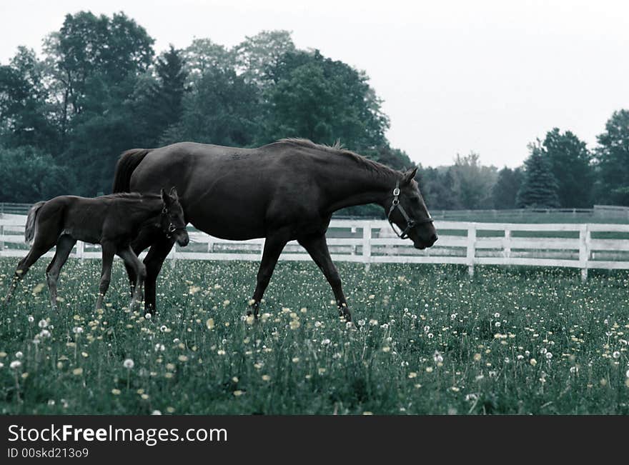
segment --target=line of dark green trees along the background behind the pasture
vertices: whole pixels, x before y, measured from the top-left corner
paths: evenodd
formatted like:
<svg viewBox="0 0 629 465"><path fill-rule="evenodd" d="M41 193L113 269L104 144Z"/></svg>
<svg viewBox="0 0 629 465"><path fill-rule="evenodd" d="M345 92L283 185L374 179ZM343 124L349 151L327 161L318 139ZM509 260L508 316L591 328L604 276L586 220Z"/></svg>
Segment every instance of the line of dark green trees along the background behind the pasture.
<svg viewBox="0 0 629 465"><path fill-rule="evenodd" d="M259 146L282 137L412 166L385 136L389 119L363 71L300 50L288 31L262 31L228 48L194 39L156 54L154 39L124 13L68 14L43 53L19 47L0 66L0 201L33 202L111 189L122 151L176 141ZM420 166L432 209L629 205L629 111L615 112L589 151L553 129L517 169ZM348 214L375 214L362 206Z"/></svg>

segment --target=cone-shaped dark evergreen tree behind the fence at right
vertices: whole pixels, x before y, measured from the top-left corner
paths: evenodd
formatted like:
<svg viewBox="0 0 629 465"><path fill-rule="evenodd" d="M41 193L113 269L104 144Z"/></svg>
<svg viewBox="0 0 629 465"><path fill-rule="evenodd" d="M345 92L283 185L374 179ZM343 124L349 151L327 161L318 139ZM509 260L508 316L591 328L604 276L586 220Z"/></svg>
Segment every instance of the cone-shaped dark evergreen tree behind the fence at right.
<svg viewBox="0 0 629 465"><path fill-rule="evenodd" d="M538 139L529 144L530 155L525 160L524 179L517 192L518 208L557 208L559 206L558 185L548 157Z"/></svg>

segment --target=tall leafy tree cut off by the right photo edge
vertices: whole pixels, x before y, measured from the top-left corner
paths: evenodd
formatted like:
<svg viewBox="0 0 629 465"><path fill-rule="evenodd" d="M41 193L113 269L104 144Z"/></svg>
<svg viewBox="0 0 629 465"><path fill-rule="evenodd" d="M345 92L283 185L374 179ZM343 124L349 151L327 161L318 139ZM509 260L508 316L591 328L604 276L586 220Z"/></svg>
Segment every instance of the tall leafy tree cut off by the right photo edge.
<svg viewBox="0 0 629 465"><path fill-rule="evenodd" d="M629 110L614 111L598 144L598 201L629 205Z"/></svg>

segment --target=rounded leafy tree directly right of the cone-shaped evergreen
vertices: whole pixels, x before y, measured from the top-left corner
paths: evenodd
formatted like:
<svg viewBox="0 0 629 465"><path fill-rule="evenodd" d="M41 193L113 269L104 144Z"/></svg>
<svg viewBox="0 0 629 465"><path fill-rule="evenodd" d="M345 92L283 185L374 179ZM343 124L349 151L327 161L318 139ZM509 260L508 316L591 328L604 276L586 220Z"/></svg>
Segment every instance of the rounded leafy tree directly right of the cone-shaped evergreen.
<svg viewBox="0 0 629 465"><path fill-rule="evenodd" d="M594 170L585 142L570 131L558 128L548 131L543 141L558 184L559 204L564 208L587 208L592 205Z"/></svg>

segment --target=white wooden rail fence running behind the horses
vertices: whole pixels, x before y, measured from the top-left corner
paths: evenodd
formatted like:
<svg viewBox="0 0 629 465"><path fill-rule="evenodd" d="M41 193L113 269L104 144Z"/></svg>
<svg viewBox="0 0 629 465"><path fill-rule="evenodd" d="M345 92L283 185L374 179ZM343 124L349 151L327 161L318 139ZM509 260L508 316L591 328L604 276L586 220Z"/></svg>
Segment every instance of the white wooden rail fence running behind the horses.
<svg viewBox="0 0 629 465"><path fill-rule="evenodd" d="M0 217L0 256L24 256L26 216ZM435 221L439 240L420 251L409 240L392 236L387 221L333 220L327 243L334 261L365 264L459 264L566 266L581 270L629 269L629 224L505 224ZM173 249L173 260L259 261L264 239L227 241L191 229L186 248ZM52 253L47 254L51 256ZM100 258L98 246L78 242L73 255ZM287 244L280 260L310 260L297 242Z"/></svg>

